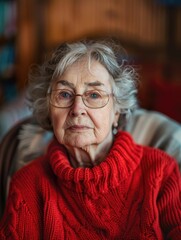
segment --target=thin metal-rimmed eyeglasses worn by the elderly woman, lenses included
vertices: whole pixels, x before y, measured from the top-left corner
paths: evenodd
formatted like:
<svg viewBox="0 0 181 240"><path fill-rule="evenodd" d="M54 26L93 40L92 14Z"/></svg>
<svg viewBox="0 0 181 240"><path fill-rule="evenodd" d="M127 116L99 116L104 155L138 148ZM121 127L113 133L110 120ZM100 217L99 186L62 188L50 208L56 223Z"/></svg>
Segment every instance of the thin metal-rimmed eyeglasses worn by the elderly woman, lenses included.
<svg viewBox="0 0 181 240"><path fill-rule="evenodd" d="M91 90L86 91L83 94L74 94L68 89L56 89L51 90L48 95L50 98L50 104L57 108L71 107L75 102L75 98L79 96L82 98L86 107L96 109L106 106L109 102L110 96L113 94L100 90Z"/></svg>

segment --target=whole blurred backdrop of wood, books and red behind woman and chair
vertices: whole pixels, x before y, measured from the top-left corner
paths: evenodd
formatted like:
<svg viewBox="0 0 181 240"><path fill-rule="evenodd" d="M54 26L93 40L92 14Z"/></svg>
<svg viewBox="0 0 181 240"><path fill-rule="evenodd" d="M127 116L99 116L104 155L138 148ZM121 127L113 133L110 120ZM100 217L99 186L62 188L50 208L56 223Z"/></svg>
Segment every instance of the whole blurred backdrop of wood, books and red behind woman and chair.
<svg viewBox="0 0 181 240"><path fill-rule="evenodd" d="M0 139L31 114L32 63L61 42L106 37L139 66L140 106L181 122L181 0L0 0Z"/></svg>

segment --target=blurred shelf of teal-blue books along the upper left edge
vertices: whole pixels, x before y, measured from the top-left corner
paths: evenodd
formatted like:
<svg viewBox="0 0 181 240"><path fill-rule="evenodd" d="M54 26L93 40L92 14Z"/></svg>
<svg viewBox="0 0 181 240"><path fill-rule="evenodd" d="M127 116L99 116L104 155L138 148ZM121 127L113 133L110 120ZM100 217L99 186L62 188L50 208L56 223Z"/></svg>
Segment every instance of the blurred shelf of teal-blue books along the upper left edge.
<svg viewBox="0 0 181 240"><path fill-rule="evenodd" d="M17 2L0 0L0 105L17 94L16 20Z"/></svg>

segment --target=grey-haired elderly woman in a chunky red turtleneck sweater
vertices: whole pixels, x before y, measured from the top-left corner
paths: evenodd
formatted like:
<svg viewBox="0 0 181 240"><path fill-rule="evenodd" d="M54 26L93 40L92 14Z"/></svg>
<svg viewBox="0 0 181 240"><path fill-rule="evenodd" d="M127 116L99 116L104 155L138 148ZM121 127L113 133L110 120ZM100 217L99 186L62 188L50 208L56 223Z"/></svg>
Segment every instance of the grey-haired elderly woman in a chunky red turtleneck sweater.
<svg viewBox="0 0 181 240"><path fill-rule="evenodd" d="M34 116L54 139L13 177L0 239L181 239L177 164L119 130L136 82L113 42L64 44L31 71Z"/></svg>

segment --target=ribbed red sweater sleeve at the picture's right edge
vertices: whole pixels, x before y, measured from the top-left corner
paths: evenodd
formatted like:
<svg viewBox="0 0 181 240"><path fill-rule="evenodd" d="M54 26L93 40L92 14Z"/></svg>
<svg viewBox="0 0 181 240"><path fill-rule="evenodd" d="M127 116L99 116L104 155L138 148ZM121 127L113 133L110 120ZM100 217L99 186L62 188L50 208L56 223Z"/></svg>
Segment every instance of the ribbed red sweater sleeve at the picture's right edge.
<svg viewBox="0 0 181 240"><path fill-rule="evenodd" d="M175 162L165 169L158 210L164 239L181 239L181 176Z"/></svg>

